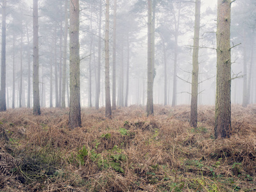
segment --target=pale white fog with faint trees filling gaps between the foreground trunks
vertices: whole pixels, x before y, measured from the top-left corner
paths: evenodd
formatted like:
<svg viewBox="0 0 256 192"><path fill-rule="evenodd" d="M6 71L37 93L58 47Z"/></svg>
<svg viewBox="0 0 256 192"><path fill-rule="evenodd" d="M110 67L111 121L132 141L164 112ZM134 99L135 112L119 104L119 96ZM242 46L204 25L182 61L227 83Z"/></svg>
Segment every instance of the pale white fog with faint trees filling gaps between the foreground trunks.
<svg viewBox="0 0 256 192"><path fill-rule="evenodd" d="M38 2L39 86L41 107L60 107L64 67L65 1ZM99 35L99 3L102 4ZM201 1L198 104L214 105L216 98L216 1ZM69 6L67 6L69 8ZM32 103L33 13L32 1L8 1L6 8L6 105L27 107ZM2 12L2 11L1 11ZM154 104L164 104L164 54L167 71L167 105L176 96L176 105L191 103L192 45L194 3L158 1L155 13ZM232 3L232 104L256 102L255 24L256 3L237 0ZM147 99L147 3L117 1L116 24L116 99L117 106L146 105ZM81 106L96 104L98 60L100 59L99 106L105 105L105 2L80 0L80 81ZM110 90L114 35L114 1L110 1ZM99 37L101 36L101 37ZM175 48L175 40L177 46ZM99 42L101 48L99 49ZM101 56L99 58L99 52ZM175 54L177 71L174 72ZM69 35L67 35L67 80L65 102L69 104ZM129 70L128 70L129 68ZM128 73L127 73L128 70ZM127 75L129 78L127 78ZM30 78L29 78L30 76ZM177 88L173 91L173 77ZM30 80L29 80L30 79ZM128 81L127 81L128 79ZM128 84L128 89L126 88ZM91 87L91 89L90 89ZM91 95L91 96L90 96ZM175 95L175 96L174 96ZM91 101L90 101L91 98ZM51 103L53 104L51 106Z"/></svg>

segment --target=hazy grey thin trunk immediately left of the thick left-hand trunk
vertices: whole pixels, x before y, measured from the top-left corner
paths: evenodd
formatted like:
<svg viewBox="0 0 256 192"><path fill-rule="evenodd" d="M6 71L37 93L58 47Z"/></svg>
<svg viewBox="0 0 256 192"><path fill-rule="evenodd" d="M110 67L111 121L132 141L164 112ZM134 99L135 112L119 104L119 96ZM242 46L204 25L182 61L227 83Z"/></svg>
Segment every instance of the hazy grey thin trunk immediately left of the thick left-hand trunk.
<svg viewBox="0 0 256 192"><path fill-rule="evenodd" d="M62 74L62 108L66 107L65 100L65 86L66 86L66 78L67 78L67 31L69 28L68 21L68 12L67 12L67 4L68 0L65 0L65 31L64 31L64 54L63 54L63 74Z"/></svg>

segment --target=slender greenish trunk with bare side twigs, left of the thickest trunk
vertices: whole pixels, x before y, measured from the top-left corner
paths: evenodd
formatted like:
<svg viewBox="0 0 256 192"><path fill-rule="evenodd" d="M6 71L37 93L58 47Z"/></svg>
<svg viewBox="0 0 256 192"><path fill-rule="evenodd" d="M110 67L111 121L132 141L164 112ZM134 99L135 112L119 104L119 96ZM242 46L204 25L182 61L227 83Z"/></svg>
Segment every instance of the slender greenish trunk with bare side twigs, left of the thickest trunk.
<svg viewBox="0 0 256 192"><path fill-rule="evenodd" d="M200 8L201 0L196 0L196 13L194 20L194 46L192 58L192 84L191 84L191 120L192 127L198 126L198 52L200 35Z"/></svg>

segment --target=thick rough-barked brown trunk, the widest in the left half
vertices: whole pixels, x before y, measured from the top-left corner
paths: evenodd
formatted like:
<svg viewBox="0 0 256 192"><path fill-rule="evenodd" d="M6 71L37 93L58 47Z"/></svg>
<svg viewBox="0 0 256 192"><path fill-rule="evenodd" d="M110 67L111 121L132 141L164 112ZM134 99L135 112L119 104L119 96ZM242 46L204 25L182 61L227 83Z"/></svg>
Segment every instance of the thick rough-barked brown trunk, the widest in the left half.
<svg viewBox="0 0 256 192"><path fill-rule="evenodd" d="M80 45L79 45L79 0L70 2L69 65L70 65L70 108L69 128L81 127L80 107Z"/></svg>

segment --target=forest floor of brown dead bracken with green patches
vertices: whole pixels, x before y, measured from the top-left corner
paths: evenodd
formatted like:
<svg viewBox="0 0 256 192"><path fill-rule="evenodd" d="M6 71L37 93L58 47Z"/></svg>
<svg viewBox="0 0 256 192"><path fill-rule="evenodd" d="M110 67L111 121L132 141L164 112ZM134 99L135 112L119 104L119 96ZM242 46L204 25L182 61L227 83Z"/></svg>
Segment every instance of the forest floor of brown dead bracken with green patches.
<svg viewBox="0 0 256 192"><path fill-rule="evenodd" d="M0 191L256 191L256 105L232 106L232 136L214 139L214 107L0 113Z"/></svg>

